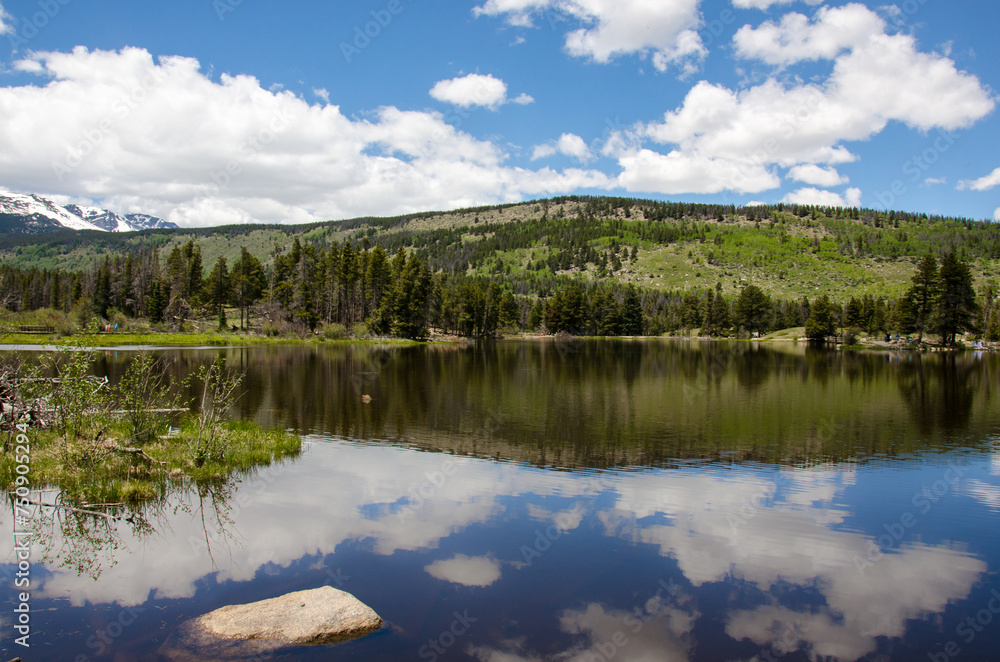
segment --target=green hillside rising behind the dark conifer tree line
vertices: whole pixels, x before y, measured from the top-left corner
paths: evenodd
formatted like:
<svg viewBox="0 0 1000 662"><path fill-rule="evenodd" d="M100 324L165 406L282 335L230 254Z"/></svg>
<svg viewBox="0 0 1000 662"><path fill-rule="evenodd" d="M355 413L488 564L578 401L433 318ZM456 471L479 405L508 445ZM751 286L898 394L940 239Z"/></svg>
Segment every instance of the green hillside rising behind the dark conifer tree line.
<svg viewBox="0 0 1000 662"><path fill-rule="evenodd" d="M88 271L105 254L171 250L194 240L206 273L245 247L265 266L295 238L327 248L366 239L404 247L432 271L510 279L522 294L555 276L634 282L671 291L753 283L782 298L895 296L928 251L954 250L982 285L1000 259L1000 227L926 214L812 206L734 207L626 198L564 197L445 213L300 226L228 226L122 235L4 236L0 264Z"/></svg>

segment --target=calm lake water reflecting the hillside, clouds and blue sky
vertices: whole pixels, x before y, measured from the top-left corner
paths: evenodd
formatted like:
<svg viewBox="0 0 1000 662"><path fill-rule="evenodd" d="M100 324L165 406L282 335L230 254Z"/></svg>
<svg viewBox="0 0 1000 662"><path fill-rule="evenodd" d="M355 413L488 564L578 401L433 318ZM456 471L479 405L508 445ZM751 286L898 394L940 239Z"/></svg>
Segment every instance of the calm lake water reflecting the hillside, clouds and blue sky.
<svg viewBox="0 0 1000 662"><path fill-rule="evenodd" d="M29 651L8 556L4 659L163 659L189 618L323 584L386 627L274 659L1000 657L1000 357L166 353L178 376L219 354L245 367L238 415L301 431L304 453L181 489L144 526L64 527L44 564L39 544Z"/></svg>

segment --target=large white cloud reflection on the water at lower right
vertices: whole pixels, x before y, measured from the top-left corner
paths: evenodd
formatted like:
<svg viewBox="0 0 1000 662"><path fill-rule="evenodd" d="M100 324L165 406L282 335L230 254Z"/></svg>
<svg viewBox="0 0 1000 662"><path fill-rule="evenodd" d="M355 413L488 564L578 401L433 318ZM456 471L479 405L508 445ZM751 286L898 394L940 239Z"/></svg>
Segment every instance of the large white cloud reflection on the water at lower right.
<svg viewBox="0 0 1000 662"><path fill-rule="evenodd" d="M670 490L651 475L622 484L615 509L602 517L609 535L659 545L696 587L719 581L765 592L776 584L823 587L825 604L816 610L766 604L731 612L726 632L736 640L767 646L786 634L775 624L801 623L795 628L799 644L814 656L858 659L876 649L879 637L900 637L908 621L967 598L987 570L982 560L947 543L910 539L865 567L878 533L843 528L849 511L837 504L853 474L837 467L788 470L763 485L749 476L675 478ZM781 494L779 482L786 485ZM761 501L768 505L741 514ZM641 524L654 514L671 523ZM906 580L916 576L920 582ZM784 650L799 644L785 641Z"/></svg>

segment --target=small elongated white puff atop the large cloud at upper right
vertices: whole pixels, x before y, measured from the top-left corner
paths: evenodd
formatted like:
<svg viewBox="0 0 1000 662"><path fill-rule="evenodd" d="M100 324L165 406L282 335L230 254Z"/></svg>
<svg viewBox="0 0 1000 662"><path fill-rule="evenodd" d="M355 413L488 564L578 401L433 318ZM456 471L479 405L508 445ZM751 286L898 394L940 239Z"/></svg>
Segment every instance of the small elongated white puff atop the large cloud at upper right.
<svg viewBox="0 0 1000 662"><path fill-rule="evenodd" d="M860 4L822 7L814 22L802 14L786 14L776 24L745 25L733 37L736 52L744 58L783 65L803 60L832 60L845 50L864 46L885 32L885 21Z"/></svg>

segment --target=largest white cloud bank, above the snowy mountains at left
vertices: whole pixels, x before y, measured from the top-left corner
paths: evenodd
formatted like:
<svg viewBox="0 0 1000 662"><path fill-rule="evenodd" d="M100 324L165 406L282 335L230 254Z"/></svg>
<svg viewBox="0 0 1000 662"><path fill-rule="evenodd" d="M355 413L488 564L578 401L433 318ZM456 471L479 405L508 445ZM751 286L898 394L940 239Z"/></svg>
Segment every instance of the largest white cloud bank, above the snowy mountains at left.
<svg viewBox="0 0 1000 662"><path fill-rule="evenodd" d="M182 226L304 223L514 202L596 171L528 170L437 112L345 117L250 76L145 50L35 53L44 84L0 87L0 178Z"/></svg>

